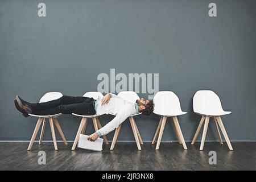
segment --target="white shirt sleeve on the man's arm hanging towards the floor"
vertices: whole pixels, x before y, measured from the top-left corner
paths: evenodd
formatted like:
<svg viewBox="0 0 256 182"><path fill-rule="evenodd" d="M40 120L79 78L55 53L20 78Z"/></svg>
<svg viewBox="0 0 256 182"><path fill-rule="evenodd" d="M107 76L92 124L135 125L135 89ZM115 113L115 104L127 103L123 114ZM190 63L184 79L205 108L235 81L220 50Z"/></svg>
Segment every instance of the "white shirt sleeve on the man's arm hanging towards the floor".
<svg viewBox="0 0 256 182"><path fill-rule="evenodd" d="M112 119L112 121L108 122L104 127L97 131L98 135L106 135L116 129L122 122L125 121L130 115L133 115L133 108L125 107Z"/></svg>

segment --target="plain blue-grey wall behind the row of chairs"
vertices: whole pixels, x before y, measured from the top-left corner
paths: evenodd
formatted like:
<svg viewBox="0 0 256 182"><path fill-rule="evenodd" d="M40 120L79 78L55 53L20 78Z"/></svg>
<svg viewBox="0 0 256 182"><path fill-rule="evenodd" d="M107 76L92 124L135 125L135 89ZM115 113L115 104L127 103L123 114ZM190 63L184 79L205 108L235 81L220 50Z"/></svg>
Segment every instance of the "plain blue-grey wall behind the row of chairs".
<svg viewBox="0 0 256 182"><path fill-rule="evenodd" d="M37 15L40 2L46 18ZM208 16L210 2L217 3L216 18ZM179 117L185 140L200 121L192 109L200 89L214 90L232 111L223 117L230 139L256 140L255 7L253 0L1 0L0 140L29 140L34 130L36 118L15 109L16 94L30 102L52 91L81 96L96 90L97 75L110 68L159 73L159 90L175 92L188 111ZM112 118L100 117L104 125ZM159 117L135 119L143 140L151 140ZM61 115L59 121L73 140L80 118ZM90 123L86 133L92 131ZM45 136L51 140L49 126ZM216 139L211 123L207 140ZM119 140L134 140L128 121ZM176 140L170 122L163 140Z"/></svg>

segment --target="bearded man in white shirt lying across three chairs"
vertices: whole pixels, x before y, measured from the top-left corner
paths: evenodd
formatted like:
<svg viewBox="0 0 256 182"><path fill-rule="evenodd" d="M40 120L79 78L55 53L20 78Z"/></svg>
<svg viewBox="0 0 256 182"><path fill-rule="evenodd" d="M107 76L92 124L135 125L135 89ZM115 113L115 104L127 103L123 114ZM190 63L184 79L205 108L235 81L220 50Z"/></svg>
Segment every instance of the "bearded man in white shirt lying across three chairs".
<svg viewBox="0 0 256 182"><path fill-rule="evenodd" d="M103 98L98 97L97 100L89 97L72 97L62 96L57 100L41 103L30 103L16 96L14 100L16 109L18 109L24 117L28 114L35 115L52 115L52 114L117 114L112 121L107 123L100 130L91 134L88 140L94 141L99 136L106 135L116 129L126 118L133 114L150 115L154 110L154 102L138 99L135 103L123 100L115 94L108 93Z"/></svg>

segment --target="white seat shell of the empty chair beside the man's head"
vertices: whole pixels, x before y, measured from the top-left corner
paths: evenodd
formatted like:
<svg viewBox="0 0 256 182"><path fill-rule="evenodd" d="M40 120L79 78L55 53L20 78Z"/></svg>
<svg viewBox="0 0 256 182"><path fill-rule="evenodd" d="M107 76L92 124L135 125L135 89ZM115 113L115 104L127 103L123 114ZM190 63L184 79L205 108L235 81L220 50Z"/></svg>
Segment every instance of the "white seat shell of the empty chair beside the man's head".
<svg viewBox="0 0 256 182"><path fill-rule="evenodd" d="M153 98L155 113L169 114L169 113L182 113L179 98L174 92L160 91L155 94Z"/></svg>

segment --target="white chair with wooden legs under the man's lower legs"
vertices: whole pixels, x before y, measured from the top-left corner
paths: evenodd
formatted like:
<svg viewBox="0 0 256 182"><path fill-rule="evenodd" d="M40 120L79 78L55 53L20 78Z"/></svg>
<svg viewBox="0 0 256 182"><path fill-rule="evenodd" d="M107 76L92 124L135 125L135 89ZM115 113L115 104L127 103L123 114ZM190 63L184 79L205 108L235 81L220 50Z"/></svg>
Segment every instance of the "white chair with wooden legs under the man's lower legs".
<svg viewBox="0 0 256 182"><path fill-rule="evenodd" d="M63 96L63 94L60 93L60 92L47 92L46 94L43 95L42 98L40 98L39 103L40 102L48 102L48 101L56 100L56 99L58 99L58 98L60 98L62 96ZM43 135L44 135L44 129L46 128L46 119L47 118L49 118L49 124L50 124L51 131L52 131L52 139L53 139L53 144L54 144L55 150L58 150L58 147L57 147L57 141L56 141L56 136L55 136L55 131L54 131L53 123L55 123L55 126L57 127L57 130L59 131L60 137L63 139L64 144L65 145L68 144L67 140L64 137L63 131L61 130L60 124L57 121L57 117L59 115L61 115L61 113L53 114L53 115L35 115L35 114L28 114L28 115L31 115L31 116L34 116L34 117L38 117L39 119L38 119L38 123L36 123L36 127L35 127L35 130L34 130L34 133L32 134L32 138L30 140L30 144L28 145L27 150L31 150L31 147L32 147L32 145L34 143L36 135L38 134L38 130L39 130L41 124L43 123L41 134L40 134L40 139L39 139L39 144L42 144Z"/></svg>

